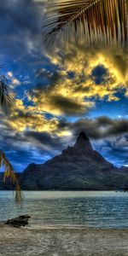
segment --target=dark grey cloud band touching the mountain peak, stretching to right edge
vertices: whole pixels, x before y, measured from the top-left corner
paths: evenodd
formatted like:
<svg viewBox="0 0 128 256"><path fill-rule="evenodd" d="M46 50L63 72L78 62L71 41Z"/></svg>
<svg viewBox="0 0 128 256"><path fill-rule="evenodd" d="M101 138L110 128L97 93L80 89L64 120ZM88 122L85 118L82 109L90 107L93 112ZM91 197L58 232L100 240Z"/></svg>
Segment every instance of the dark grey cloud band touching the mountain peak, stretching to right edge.
<svg viewBox="0 0 128 256"><path fill-rule="evenodd" d="M65 120L60 122L59 128L67 128L78 135L84 131L89 137L100 139L105 137L115 137L128 132L127 119L109 119L100 117L97 119L79 119L77 122L68 123Z"/></svg>

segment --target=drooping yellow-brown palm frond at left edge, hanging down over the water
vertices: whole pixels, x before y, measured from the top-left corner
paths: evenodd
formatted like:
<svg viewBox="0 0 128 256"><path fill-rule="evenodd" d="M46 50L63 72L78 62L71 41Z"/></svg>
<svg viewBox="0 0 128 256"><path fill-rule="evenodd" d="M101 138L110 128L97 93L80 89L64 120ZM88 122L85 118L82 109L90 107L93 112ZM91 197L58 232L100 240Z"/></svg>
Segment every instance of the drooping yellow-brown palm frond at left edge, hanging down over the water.
<svg viewBox="0 0 128 256"><path fill-rule="evenodd" d="M5 168L3 181L5 182L6 178L10 177L10 182L15 185L15 201L21 203L23 198L16 173L2 150L0 150L0 166Z"/></svg>

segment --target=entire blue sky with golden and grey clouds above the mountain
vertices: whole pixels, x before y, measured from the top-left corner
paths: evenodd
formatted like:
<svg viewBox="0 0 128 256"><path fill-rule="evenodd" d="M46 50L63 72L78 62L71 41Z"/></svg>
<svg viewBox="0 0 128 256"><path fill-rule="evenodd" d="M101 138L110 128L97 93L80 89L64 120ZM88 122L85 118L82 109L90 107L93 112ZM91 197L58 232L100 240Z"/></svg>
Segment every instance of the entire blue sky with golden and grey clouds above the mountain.
<svg viewBox="0 0 128 256"><path fill-rule="evenodd" d="M1 148L22 172L60 154L85 131L114 165L128 165L127 52L79 44L49 53L43 15L44 1L0 3L1 73L15 91L10 115L0 113Z"/></svg>

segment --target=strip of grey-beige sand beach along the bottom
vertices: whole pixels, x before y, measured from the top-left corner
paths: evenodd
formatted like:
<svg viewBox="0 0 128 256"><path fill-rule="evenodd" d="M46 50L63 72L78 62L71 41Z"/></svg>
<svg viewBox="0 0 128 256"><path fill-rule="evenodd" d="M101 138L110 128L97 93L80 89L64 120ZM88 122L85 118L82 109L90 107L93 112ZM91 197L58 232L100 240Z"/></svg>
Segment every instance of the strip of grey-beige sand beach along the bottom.
<svg viewBox="0 0 128 256"><path fill-rule="evenodd" d="M128 230L0 225L0 256L128 256Z"/></svg>

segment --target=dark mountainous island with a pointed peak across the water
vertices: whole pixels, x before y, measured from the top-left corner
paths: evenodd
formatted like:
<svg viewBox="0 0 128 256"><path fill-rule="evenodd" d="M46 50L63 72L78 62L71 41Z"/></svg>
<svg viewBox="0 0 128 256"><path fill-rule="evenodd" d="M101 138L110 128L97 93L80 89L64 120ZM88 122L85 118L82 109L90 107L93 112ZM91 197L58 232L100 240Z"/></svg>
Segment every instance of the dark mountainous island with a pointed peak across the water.
<svg viewBox="0 0 128 256"><path fill-rule="evenodd" d="M73 147L44 164L31 164L18 174L23 190L113 190L128 186L128 167L117 168L92 148L89 137L79 134ZM3 183L0 189L11 189Z"/></svg>

